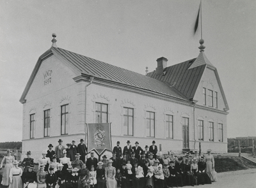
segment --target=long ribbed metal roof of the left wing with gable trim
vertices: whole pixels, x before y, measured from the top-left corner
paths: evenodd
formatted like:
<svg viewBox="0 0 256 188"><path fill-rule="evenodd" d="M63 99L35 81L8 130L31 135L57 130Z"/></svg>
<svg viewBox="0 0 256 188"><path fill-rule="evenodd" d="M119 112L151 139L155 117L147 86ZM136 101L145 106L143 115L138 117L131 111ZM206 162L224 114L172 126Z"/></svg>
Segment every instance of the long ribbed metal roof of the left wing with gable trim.
<svg viewBox="0 0 256 188"><path fill-rule="evenodd" d="M168 83L166 84L161 82L161 80L150 78L149 76L141 75L140 73L129 71L124 68L119 68L106 62L98 61L84 55L79 55L62 48L51 47L49 50L47 50L47 52L41 55L38 59L38 62L36 62L33 73L31 74L26 88L20 98L21 103L25 102L26 94L28 93L31 84L33 83L33 79L35 78L35 75L40 68L40 64L45 59L45 56L52 54L56 55L56 57L59 57L60 59L63 59L63 61L68 62L71 65L71 68L74 68L77 76L82 74L94 76L95 78L102 80L121 83L122 85L129 85L130 87L148 90L151 92L156 92L173 98L188 101L188 98L186 98L183 94L180 94L177 89L170 87Z"/></svg>

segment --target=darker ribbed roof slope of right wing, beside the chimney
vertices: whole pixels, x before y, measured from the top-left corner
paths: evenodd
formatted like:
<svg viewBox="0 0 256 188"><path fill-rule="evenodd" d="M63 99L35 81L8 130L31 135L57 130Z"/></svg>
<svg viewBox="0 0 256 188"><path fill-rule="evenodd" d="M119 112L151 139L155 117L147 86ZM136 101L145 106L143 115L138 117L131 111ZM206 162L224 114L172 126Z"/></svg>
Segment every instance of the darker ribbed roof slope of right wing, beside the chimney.
<svg viewBox="0 0 256 188"><path fill-rule="evenodd" d="M189 61L180 62L179 64L169 66L164 69L166 72L165 75L156 75L155 71L153 71L148 73L147 76L169 83L173 88L179 90L179 92L184 94L184 96L186 96L188 99L193 99L206 66L206 64L202 64L200 66L196 66L195 68L189 69L189 67L193 65L195 61L196 59L191 59Z"/></svg>

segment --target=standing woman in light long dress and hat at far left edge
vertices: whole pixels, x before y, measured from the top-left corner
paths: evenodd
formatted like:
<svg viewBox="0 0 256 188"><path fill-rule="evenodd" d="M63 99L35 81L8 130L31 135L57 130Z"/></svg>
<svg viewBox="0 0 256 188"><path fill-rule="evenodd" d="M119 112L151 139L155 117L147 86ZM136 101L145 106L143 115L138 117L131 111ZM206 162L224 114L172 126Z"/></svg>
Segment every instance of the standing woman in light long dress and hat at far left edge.
<svg viewBox="0 0 256 188"><path fill-rule="evenodd" d="M7 150L7 155L4 156L2 162L1 162L1 166L0 166L0 169L3 168L3 164L5 164L4 166L4 172L3 172L3 180L1 182L2 185L5 185L5 186L8 186L10 184L10 178L9 178L9 175L10 175L10 170L11 168L13 167L13 161L15 160L14 157L11 155L11 151L10 150Z"/></svg>

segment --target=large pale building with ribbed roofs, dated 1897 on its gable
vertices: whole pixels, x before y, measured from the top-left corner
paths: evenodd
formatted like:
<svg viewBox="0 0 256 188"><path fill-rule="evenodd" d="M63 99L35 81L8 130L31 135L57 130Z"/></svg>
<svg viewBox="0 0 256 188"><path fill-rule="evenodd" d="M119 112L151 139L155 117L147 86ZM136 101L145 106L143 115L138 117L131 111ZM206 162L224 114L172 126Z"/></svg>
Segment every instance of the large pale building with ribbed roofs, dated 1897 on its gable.
<svg viewBox="0 0 256 188"><path fill-rule="evenodd" d="M141 75L56 46L42 54L20 98L22 154L86 137L85 124L111 122L113 146L127 140L162 150L227 152L228 105L217 69L200 54L179 64L157 59Z"/></svg>

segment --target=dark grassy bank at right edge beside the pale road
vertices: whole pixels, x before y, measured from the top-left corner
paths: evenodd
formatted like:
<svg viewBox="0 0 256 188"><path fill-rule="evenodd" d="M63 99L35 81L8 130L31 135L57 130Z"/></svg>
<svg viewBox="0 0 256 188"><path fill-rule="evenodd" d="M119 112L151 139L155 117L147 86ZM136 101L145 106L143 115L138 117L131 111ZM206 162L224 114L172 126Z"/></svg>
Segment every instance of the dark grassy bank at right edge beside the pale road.
<svg viewBox="0 0 256 188"><path fill-rule="evenodd" d="M221 156L214 157L215 170L217 172L246 170L256 168L256 164L237 156Z"/></svg>

